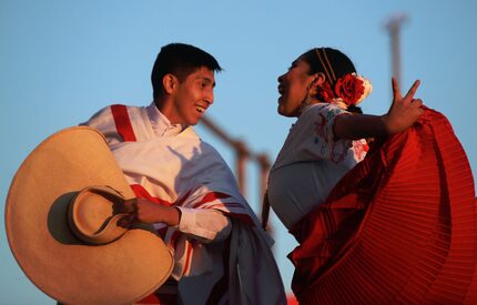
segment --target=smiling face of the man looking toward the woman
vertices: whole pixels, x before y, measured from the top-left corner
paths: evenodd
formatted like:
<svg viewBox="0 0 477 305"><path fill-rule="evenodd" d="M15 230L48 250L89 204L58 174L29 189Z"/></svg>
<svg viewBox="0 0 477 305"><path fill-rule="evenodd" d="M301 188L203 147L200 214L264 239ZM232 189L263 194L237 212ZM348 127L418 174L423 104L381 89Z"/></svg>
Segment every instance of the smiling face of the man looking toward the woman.
<svg viewBox="0 0 477 305"><path fill-rule="evenodd" d="M172 124L195 125L214 101L214 71L202 67L179 82L172 93L173 110L169 115Z"/></svg>

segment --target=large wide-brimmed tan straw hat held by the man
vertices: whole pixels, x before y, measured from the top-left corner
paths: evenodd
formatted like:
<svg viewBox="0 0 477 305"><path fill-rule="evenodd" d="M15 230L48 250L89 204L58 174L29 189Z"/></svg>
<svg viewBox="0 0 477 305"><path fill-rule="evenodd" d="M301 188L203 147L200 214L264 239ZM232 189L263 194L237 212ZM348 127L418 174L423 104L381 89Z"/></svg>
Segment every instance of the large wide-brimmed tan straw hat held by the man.
<svg viewBox="0 0 477 305"><path fill-rule="evenodd" d="M14 258L61 303L143 298L165 282L173 258L149 227L115 224L121 215L113 215L114 203L131 197L100 132L77 126L51 135L23 161L7 197Z"/></svg>

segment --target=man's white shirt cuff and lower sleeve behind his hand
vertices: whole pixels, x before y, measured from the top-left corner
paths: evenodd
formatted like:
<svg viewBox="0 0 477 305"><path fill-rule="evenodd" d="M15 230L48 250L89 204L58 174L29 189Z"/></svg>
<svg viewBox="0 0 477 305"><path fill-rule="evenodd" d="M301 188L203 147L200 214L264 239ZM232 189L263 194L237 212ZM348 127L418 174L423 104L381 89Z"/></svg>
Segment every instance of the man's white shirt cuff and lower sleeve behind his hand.
<svg viewBox="0 0 477 305"><path fill-rule="evenodd" d="M183 206L177 209L181 211L179 231L201 243L220 242L231 233L231 221L220 211Z"/></svg>

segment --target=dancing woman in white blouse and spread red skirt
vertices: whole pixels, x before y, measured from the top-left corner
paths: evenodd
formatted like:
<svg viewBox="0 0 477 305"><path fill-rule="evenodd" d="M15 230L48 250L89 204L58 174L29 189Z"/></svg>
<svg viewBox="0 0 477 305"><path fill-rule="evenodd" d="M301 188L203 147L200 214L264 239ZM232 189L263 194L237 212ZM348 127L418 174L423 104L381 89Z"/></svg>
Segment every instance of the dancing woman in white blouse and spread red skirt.
<svg viewBox="0 0 477 305"><path fill-rule="evenodd" d="M419 81L403 98L393 79L380 116L359 114L372 87L338 50L307 51L278 83L278 113L298 119L267 201L300 243L298 302L474 301L474 181L448 121L414 99Z"/></svg>

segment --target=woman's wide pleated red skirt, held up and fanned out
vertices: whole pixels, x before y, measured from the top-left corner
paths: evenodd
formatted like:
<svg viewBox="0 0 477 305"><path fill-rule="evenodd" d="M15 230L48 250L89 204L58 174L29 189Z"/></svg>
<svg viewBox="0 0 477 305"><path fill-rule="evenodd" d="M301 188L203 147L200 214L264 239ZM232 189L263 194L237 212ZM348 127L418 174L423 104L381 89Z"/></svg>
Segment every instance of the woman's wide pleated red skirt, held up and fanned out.
<svg viewBox="0 0 477 305"><path fill-rule="evenodd" d="M291 230L292 288L301 304L475 302L475 209L467 156L426 109Z"/></svg>

